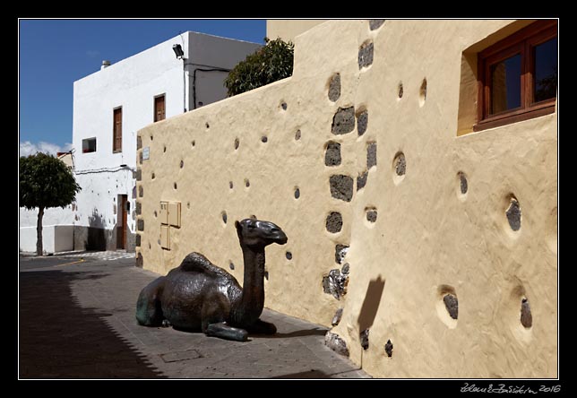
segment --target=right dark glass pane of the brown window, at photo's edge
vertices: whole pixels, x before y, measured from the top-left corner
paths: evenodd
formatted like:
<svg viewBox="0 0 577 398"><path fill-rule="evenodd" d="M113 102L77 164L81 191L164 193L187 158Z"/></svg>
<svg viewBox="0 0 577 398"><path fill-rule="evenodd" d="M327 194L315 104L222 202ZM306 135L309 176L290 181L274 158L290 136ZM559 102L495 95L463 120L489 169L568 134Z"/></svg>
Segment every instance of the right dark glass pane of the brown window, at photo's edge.
<svg viewBox="0 0 577 398"><path fill-rule="evenodd" d="M535 102L557 94L557 38L535 47Z"/></svg>

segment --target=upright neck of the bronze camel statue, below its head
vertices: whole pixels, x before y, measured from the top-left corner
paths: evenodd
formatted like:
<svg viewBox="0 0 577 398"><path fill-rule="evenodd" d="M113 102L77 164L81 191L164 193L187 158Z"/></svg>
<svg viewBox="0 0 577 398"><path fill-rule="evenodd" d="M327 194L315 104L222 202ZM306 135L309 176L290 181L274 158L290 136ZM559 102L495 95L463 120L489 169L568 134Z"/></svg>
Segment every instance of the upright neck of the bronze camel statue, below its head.
<svg viewBox="0 0 577 398"><path fill-rule="evenodd" d="M245 280L237 315L243 324L252 324L264 307L264 247L242 247L245 260Z"/></svg>

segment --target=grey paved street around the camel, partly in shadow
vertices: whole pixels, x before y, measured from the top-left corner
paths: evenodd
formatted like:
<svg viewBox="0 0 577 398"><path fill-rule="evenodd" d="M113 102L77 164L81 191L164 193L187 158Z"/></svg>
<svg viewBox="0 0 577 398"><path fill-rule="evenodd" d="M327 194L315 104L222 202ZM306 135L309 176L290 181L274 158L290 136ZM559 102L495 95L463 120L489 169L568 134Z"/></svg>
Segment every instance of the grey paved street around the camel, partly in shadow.
<svg viewBox="0 0 577 398"><path fill-rule="evenodd" d="M21 257L21 378L365 378L324 345L323 326L263 311L274 336L228 342L136 324L159 275L133 259Z"/></svg>

